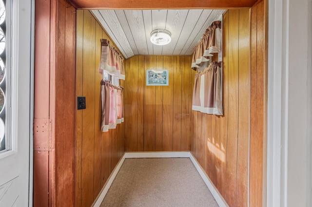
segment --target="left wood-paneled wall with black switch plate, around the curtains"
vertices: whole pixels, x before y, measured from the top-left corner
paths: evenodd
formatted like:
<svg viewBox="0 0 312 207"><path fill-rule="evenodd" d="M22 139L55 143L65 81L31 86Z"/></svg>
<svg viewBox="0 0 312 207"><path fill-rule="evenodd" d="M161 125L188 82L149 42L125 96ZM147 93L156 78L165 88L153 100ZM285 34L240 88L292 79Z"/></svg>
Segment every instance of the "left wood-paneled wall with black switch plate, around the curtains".
<svg viewBox="0 0 312 207"><path fill-rule="evenodd" d="M92 205L124 153L124 123L100 132L101 38L110 40L88 10L77 10L76 96L86 97L86 109L76 111L76 207Z"/></svg>

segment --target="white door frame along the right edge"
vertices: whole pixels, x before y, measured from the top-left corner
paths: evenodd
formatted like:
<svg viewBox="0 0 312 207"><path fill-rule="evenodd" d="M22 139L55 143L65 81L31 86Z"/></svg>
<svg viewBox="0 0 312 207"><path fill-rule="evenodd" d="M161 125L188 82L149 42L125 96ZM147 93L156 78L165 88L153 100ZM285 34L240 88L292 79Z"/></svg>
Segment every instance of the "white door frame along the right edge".
<svg viewBox="0 0 312 207"><path fill-rule="evenodd" d="M311 4L269 0L268 207L312 205Z"/></svg>

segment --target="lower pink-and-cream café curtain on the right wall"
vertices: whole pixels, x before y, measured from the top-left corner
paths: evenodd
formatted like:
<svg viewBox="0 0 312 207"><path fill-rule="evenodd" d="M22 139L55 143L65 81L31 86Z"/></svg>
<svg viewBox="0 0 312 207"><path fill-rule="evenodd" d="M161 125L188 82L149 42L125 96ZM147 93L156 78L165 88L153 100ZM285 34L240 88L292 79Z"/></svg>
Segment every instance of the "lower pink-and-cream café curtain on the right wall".
<svg viewBox="0 0 312 207"><path fill-rule="evenodd" d="M214 61L195 74L192 110L223 115L221 65L222 62Z"/></svg>

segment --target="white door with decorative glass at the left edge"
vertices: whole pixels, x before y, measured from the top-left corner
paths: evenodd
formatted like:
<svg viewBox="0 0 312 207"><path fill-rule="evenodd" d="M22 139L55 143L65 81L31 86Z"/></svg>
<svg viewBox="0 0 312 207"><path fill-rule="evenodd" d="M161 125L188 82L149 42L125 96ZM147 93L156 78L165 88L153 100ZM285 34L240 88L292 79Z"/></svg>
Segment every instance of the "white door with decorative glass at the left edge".
<svg viewBox="0 0 312 207"><path fill-rule="evenodd" d="M6 14L0 24L5 34L4 43L0 30L0 52L5 44L0 55L0 110L4 105L0 112L0 207L28 207L32 206L33 186L34 2L0 1ZM1 16L3 6L0 21Z"/></svg>

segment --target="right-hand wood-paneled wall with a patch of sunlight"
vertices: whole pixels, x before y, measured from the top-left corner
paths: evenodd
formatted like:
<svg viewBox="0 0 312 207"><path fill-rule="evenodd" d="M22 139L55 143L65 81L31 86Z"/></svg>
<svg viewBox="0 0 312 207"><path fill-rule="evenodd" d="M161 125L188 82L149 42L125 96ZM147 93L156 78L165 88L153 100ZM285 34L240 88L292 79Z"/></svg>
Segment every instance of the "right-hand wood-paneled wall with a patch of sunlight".
<svg viewBox="0 0 312 207"><path fill-rule="evenodd" d="M224 116L192 111L191 151L230 207L266 202L267 8L223 16Z"/></svg>

